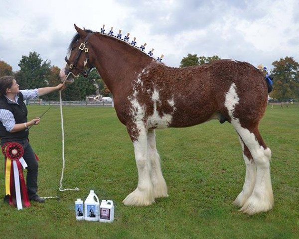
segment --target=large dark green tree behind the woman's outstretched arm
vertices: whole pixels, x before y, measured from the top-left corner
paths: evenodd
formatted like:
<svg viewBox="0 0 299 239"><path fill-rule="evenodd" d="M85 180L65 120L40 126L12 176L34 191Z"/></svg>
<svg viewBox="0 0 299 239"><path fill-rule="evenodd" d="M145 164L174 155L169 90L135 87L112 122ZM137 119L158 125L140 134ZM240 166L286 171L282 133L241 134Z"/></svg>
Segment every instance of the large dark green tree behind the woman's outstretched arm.
<svg viewBox="0 0 299 239"><path fill-rule="evenodd" d="M51 63L43 61L36 52L29 52L29 56L22 56L18 66L20 70L16 80L20 89L34 89L48 85L47 78Z"/></svg>

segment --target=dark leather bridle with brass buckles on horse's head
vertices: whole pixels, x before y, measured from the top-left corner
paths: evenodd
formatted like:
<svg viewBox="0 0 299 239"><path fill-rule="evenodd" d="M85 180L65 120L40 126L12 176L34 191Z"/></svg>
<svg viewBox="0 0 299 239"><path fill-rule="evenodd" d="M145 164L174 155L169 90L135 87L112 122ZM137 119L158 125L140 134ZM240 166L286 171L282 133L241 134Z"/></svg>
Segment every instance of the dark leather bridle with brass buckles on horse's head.
<svg viewBox="0 0 299 239"><path fill-rule="evenodd" d="M89 37L90 37L91 35L92 35L92 33L89 32L89 33L87 34L87 36L85 37L84 42L82 42L82 43L80 44L80 46L79 46L79 50L77 51L77 54L76 54L76 56L75 56L75 58L74 58L73 63L70 63L70 61L67 59L67 57L64 58L64 60L66 61L66 63L69 64L69 69L67 70L67 75L71 72L72 69L77 69L77 70L78 70L84 77L87 77L88 74L90 73L91 69L94 68L94 67L92 66L91 68L84 70L84 69L79 69L79 68L77 67L77 63L78 63L79 58L80 58L80 55L81 55L81 53L82 53L83 51L86 53L87 64L88 64L88 62L89 62L88 48L87 48L87 40L89 39ZM72 74L74 77L78 77L78 75L75 76L73 73L71 73L71 74Z"/></svg>

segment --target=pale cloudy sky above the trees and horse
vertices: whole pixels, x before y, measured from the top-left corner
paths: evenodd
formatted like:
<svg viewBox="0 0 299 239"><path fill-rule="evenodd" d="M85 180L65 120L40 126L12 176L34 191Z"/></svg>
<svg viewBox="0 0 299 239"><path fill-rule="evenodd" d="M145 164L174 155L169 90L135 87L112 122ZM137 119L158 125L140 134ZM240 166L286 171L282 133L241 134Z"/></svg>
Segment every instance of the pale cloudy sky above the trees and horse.
<svg viewBox="0 0 299 239"><path fill-rule="evenodd" d="M64 66L74 23L130 32L172 67L188 53L268 69L286 56L299 62L299 0L1 0L0 22L0 60L13 71L33 51Z"/></svg>

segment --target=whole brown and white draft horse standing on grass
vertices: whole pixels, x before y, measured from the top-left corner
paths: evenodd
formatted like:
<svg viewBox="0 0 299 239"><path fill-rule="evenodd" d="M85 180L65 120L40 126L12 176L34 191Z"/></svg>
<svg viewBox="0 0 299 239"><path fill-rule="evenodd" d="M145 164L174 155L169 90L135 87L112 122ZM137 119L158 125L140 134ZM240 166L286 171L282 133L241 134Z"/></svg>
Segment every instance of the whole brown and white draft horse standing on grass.
<svg viewBox="0 0 299 239"><path fill-rule="evenodd" d="M235 127L246 164L243 190L234 203L248 214L273 208L271 150L258 130L268 96L260 70L235 60L167 67L125 40L75 28L78 34L60 77L73 80L96 67L113 94L117 116L134 144L139 176L137 189L124 199L125 205L150 205L155 198L168 196L156 150L156 128L219 119Z"/></svg>

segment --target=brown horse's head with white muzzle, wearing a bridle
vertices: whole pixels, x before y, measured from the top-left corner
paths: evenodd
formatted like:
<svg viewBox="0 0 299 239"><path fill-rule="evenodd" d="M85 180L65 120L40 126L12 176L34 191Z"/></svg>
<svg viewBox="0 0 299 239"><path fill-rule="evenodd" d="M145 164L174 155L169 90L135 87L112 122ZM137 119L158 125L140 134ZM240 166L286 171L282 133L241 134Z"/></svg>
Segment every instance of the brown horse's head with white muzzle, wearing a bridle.
<svg viewBox="0 0 299 239"><path fill-rule="evenodd" d="M93 32L90 30L82 30L75 24L75 29L78 32L69 45L68 56L65 57L66 65L60 71L60 79L72 83L75 78L82 74L87 77L91 69L93 54L90 51L89 38Z"/></svg>

